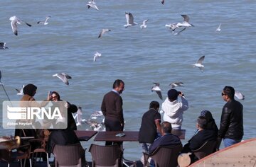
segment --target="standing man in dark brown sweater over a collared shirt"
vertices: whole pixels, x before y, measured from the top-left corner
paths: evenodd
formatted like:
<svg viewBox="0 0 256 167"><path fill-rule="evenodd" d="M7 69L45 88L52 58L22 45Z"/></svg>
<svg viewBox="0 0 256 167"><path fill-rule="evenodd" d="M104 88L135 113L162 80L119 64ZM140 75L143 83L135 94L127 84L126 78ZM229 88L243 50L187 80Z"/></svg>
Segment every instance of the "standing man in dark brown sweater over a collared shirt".
<svg viewBox="0 0 256 167"><path fill-rule="evenodd" d="M124 115L122 109L122 97L120 94L124 91L124 81L117 79L114 81L112 91L105 94L101 110L105 116L106 131L123 131ZM106 142L106 145L112 145L113 142Z"/></svg>

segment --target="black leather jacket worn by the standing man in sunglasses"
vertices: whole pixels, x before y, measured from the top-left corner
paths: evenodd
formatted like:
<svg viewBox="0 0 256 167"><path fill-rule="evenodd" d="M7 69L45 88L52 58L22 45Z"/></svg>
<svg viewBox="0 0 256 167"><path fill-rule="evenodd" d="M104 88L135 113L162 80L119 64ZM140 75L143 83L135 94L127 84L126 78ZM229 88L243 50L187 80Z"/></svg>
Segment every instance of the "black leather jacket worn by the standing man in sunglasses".
<svg viewBox="0 0 256 167"><path fill-rule="evenodd" d="M218 137L241 140L243 136L242 104L233 99L225 103Z"/></svg>

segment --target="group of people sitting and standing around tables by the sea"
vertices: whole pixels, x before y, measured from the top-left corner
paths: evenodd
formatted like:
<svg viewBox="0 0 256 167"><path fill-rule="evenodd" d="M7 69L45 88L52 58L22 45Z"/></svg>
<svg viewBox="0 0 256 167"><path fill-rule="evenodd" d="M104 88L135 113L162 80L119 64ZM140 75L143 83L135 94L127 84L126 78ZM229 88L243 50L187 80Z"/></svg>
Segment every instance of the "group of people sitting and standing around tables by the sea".
<svg viewBox="0 0 256 167"><path fill-rule="evenodd" d="M34 105L44 106L48 101L63 101L60 99L58 92L53 91L48 93L47 100L44 103L36 103L35 96L37 87L33 84L28 84L23 88L23 97L21 101L33 101ZM105 94L102 100L101 110L105 116L106 131L123 131L124 129L124 114L123 101L120 96L124 91L124 81L117 79L114 81L112 91ZM243 136L243 118L242 104L234 99L235 89L231 86L225 86L221 93L225 105L221 113L220 126L215 124L213 115L208 110L201 111L196 122L196 133L188 140L188 143L183 146L181 153L193 152L205 142L216 141L216 149L223 140L224 146L230 146L241 142ZM180 97L180 100L178 99ZM73 114L77 112L76 105L65 102L67 109L67 127L64 129L48 129L50 136L48 137L47 151L53 152L55 144L75 144L79 143L74 130L77 129ZM139 143L142 145L142 151L151 154L159 146L172 146L181 144L181 140L174 134L171 134L172 129L181 129L183 123L183 113L188 110L188 100L181 91L170 89L167 93L167 98L161 104L161 112L164 113L161 122L161 114L159 113L160 104L157 101L151 101L149 110L142 115L141 127L139 129ZM55 122L57 124L58 121ZM21 129L15 130L15 136L26 137L33 136L42 138L43 129ZM106 145L119 144L122 142L106 142ZM36 149L40 143L32 146ZM81 155L84 155L84 150ZM196 159L193 158L194 161Z"/></svg>

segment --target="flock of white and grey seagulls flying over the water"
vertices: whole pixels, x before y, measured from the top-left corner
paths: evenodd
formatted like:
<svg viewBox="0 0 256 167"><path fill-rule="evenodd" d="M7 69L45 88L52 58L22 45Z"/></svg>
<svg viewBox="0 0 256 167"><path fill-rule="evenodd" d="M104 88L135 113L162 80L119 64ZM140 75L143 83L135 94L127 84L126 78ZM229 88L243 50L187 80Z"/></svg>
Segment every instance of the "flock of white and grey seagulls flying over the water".
<svg viewBox="0 0 256 167"><path fill-rule="evenodd" d="M161 1L161 4L164 5L164 0L160 0L160 1ZM95 10L99 11L99 8L96 6L96 3L95 3L94 0L88 1L87 8L94 8ZM165 25L167 28L169 28L172 31L172 33L174 33L177 29L182 28L181 30L178 31L178 33L174 33L174 35L179 35L181 32L186 30L186 28L194 27L194 25L189 22L190 18L189 18L188 15L181 15L181 16L183 17L183 22L181 22L181 23L180 22L170 23L170 24ZM38 21L37 23L38 24L43 24L43 25L48 25L48 20L50 19L50 17L51 16L47 16L44 21ZM132 13L125 12L125 18L126 18L127 23L124 25L124 28L128 28L128 27L131 27L131 26L134 26L134 25L138 24L138 23L134 22L134 16L132 15ZM9 20L11 21L11 28L12 28L12 31L13 31L14 35L18 35L18 25L21 25L21 23L26 23L26 22L17 18L16 16L11 16L9 18ZM149 19L144 20L139 27L141 29L146 28L147 27L147 25L146 25L147 21L149 21ZM28 25L29 27L32 26L29 23L26 23L26 25ZM218 25L218 28L215 30L215 32L220 32L220 30L221 30L220 26L221 26L221 23ZM105 33L110 32L110 31L111 30L107 29L107 28L102 29L100 31L100 34L98 35L98 38L102 38L102 35L104 35ZM0 42L0 50L5 50L5 49L9 49L8 47L6 47L6 43L5 42ZM100 54L99 52L96 52L94 54L94 57L93 57L93 62L96 62L96 59L98 57L101 57L101 55L102 54ZM205 56L200 57L195 64L192 64L193 67L198 67L201 70L201 72L203 72L204 65L202 63L203 63L204 59L205 59ZM1 71L0 71L0 75L1 75ZM69 85L68 79L72 79L71 76L69 76L68 74L65 74L65 73L53 74L53 77L58 77L66 85ZM1 76L0 76L0 79L1 79ZM171 88L175 88L175 87L178 87L178 86L183 86L183 82L174 82L174 83L169 84L169 86L171 86ZM23 87L24 87L24 85L23 85ZM16 91L18 92L17 95L23 95L23 87L20 90L16 89ZM151 87L151 91L156 92L156 94L159 96L159 98L161 100L163 100L159 83L154 82L154 86ZM235 91L235 97L237 97L240 100L245 99L245 96L242 93L240 93L239 91ZM97 122L90 121L90 120L96 120L97 117L100 117L102 115L103 114L102 114L101 111L97 111L96 113L92 113L91 118L89 120L82 119L82 108L79 107L78 112L74 117L77 120L77 125L78 126L86 123L86 124L90 125L90 127L92 127L92 129L97 130L97 129L102 128L102 125L103 125L102 122L104 122L104 121L102 121L100 124L98 124Z"/></svg>

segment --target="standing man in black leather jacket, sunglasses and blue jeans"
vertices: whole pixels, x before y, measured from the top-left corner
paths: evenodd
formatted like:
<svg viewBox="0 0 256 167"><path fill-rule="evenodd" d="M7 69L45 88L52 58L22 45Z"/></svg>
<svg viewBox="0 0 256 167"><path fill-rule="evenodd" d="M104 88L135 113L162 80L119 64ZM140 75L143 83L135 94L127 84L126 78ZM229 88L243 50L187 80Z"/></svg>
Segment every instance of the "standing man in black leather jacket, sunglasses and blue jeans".
<svg viewBox="0 0 256 167"><path fill-rule="evenodd" d="M223 139L224 146L231 146L241 142L243 136L242 104L234 99L235 89L225 86L221 93L227 103L223 106L218 141Z"/></svg>

